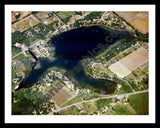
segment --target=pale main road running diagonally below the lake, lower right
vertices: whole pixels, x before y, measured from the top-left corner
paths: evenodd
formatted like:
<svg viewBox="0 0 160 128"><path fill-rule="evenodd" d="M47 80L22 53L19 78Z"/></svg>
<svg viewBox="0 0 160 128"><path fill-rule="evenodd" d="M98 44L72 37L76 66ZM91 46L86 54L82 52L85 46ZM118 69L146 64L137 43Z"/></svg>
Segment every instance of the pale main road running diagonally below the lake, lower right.
<svg viewBox="0 0 160 128"><path fill-rule="evenodd" d="M80 101L80 102L77 102L77 103L62 107L62 108L58 108L58 110L54 111L54 112L59 112L59 111L65 110L67 108L70 108L72 106L75 106L75 105L78 105L78 104L81 104L81 103L96 101L96 100L99 100L99 99L122 98L122 97L125 97L125 96L135 95L135 94L144 93L144 92L148 92L148 90L126 93L126 94L121 94L121 95L103 95L102 98L95 98L95 99L91 99L91 100L87 100L87 101Z"/></svg>

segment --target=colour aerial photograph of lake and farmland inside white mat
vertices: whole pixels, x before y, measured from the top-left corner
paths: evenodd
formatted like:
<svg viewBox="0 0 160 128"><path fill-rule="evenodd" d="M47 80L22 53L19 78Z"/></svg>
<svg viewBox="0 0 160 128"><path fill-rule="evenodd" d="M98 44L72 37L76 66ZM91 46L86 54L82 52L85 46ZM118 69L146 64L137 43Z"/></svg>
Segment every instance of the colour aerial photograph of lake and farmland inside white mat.
<svg viewBox="0 0 160 128"><path fill-rule="evenodd" d="M12 115L149 115L148 11L12 11Z"/></svg>

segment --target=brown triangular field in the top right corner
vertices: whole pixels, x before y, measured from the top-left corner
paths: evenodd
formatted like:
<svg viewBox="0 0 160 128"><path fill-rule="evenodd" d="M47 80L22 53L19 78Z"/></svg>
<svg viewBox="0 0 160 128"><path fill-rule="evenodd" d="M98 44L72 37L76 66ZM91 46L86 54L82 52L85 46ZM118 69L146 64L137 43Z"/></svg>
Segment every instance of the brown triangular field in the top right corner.
<svg viewBox="0 0 160 128"><path fill-rule="evenodd" d="M129 22L135 29L138 29L141 33L146 34L149 32L148 12L117 11L116 13Z"/></svg>

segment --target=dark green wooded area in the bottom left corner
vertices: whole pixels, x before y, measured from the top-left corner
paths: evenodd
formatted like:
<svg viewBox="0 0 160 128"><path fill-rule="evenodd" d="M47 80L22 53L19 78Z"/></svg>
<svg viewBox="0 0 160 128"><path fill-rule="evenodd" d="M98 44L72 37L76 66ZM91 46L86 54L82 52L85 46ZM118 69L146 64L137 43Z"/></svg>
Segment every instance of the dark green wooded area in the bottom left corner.
<svg viewBox="0 0 160 128"><path fill-rule="evenodd" d="M15 98L15 102L12 102L13 115L32 114L33 109L39 113L39 105L47 101L42 92L31 91L31 89L21 89L13 98Z"/></svg>

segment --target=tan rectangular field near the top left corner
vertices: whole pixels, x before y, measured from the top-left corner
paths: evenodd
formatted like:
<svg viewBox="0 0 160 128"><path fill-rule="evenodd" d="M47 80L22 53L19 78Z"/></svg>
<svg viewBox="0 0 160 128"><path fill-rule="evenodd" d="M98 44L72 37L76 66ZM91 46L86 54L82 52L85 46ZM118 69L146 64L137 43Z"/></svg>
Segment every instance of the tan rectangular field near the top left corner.
<svg viewBox="0 0 160 128"><path fill-rule="evenodd" d="M28 28L38 24L40 21L35 18L33 15L30 15L14 24L12 24L12 32L20 31L23 32Z"/></svg>

